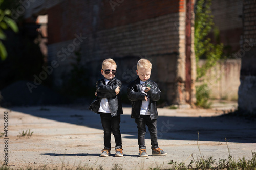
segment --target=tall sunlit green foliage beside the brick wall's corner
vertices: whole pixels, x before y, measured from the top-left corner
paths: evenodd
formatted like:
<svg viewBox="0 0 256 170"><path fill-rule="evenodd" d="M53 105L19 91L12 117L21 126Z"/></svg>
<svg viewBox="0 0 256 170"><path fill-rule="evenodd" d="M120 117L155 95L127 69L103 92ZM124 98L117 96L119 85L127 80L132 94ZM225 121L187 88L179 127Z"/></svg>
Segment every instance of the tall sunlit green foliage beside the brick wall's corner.
<svg viewBox="0 0 256 170"><path fill-rule="evenodd" d="M218 42L219 30L214 27L214 16L211 13L211 0L198 0L195 4L195 55L197 63L197 80L202 78L207 70L215 66L223 55L223 44ZM214 33L217 44L212 43L209 33ZM199 66L199 59L206 59L203 66Z"/></svg>

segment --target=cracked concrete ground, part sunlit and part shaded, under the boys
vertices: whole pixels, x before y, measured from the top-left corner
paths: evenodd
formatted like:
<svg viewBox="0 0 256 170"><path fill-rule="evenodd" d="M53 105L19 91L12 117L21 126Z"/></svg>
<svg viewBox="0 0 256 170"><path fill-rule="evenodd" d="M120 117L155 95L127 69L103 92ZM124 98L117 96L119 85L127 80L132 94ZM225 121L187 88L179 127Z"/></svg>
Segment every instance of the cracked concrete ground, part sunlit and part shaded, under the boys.
<svg viewBox="0 0 256 170"><path fill-rule="evenodd" d="M217 162L219 159L228 159L228 148L236 160L243 156L251 158L252 152L256 151L255 120L220 116L223 110L234 109L233 103L213 106L212 109L159 108L158 142L160 148L168 154L151 155L150 136L147 132L147 158L138 157L137 128L135 120L130 118L130 107L123 108L124 115L120 123L123 157L114 157L113 135L111 156L99 157L103 149L103 130L99 115L89 111L88 106L0 108L2 133L5 132L4 125L7 125L4 124L4 117L8 117L5 119L8 123L8 136L0 138L0 161L7 161L13 169L44 166L51 169L79 166L112 169L115 164L122 169L170 168L172 166L168 163L171 160L185 162L187 165L193 157L197 160L200 156L212 156ZM26 130L33 134L19 136Z"/></svg>

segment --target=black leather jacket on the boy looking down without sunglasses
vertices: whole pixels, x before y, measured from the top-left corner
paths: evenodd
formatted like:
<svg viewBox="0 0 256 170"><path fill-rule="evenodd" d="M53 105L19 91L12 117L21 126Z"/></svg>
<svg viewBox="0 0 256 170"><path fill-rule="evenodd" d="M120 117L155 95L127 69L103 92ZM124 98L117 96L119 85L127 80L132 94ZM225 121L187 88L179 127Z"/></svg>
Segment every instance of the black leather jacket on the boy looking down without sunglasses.
<svg viewBox="0 0 256 170"><path fill-rule="evenodd" d="M145 100L145 96L150 96L150 104L148 106L148 111L150 112L151 119L157 119L158 118L158 112L157 112L157 105L156 101L160 99L161 91L158 88L157 83L155 83L152 80L147 80L147 84L151 85L150 91L147 92L147 95L141 92L140 88L140 79L139 77L132 81L128 88L127 88L127 94L128 98L132 101L132 118L139 118L140 117L140 109L142 105L142 101Z"/></svg>

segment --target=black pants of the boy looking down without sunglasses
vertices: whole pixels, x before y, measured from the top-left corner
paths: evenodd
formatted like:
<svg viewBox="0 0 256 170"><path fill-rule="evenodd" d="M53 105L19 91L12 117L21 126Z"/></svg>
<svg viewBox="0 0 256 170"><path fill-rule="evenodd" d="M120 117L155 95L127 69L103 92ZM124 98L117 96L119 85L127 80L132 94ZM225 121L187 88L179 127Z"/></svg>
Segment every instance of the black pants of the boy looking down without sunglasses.
<svg viewBox="0 0 256 170"><path fill-rule="evenodd" d="M150 131L151 148L158 148L157 119L151 120L149 115L140 115L140 118L136 118L135 122L138 128L139 148L145 147L146 125L148 127L148 131Z"/></svg>

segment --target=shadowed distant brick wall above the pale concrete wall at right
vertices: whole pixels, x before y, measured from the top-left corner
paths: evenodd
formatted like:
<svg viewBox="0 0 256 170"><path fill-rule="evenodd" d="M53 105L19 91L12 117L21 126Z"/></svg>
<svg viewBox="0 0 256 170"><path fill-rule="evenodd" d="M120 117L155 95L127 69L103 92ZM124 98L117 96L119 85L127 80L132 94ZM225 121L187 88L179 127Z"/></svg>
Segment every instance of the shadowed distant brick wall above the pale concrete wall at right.
<svg viewBox="0 0 256 170"><path fill-rule="evenodd" d="M220 42L224 44L226 54L237 52L243 34L242 0L212 0L211 10L215 27L220 30ZM214 36L210 36L214 39Z"/></svg>

